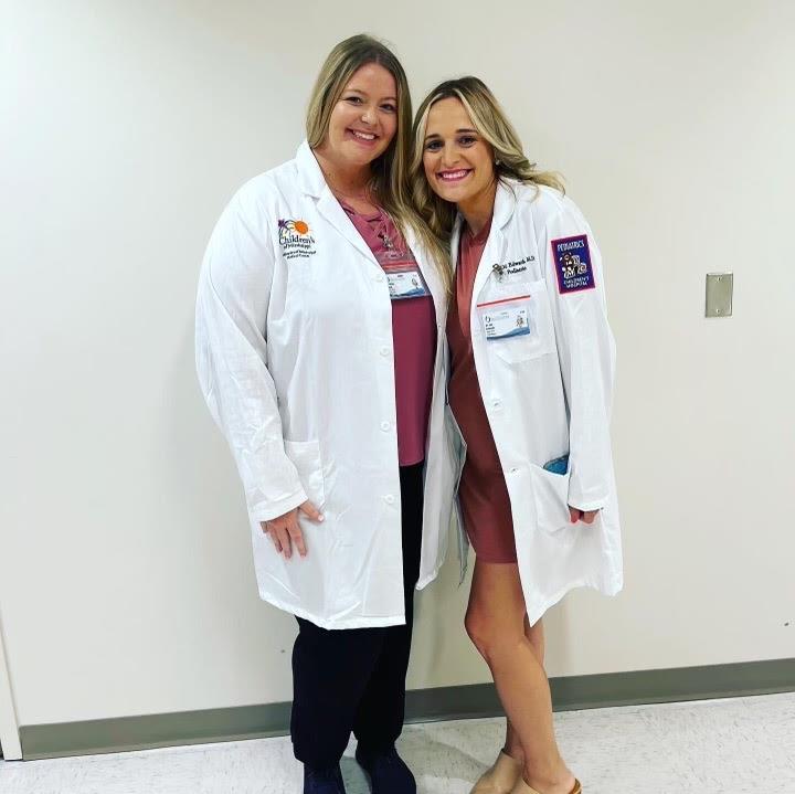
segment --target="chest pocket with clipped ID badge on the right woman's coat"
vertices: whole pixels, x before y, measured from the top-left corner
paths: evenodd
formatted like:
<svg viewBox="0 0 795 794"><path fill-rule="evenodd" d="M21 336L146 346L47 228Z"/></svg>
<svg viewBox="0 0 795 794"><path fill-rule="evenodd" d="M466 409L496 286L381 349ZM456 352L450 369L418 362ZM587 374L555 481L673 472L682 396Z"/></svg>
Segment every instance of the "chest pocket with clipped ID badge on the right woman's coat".
<svg viewBox="0 0 795 794"><path fill-rule="evenodd" d="M547 283L497 280L478 304L486 347L509 364L554 352L554 326Z"/></svg>

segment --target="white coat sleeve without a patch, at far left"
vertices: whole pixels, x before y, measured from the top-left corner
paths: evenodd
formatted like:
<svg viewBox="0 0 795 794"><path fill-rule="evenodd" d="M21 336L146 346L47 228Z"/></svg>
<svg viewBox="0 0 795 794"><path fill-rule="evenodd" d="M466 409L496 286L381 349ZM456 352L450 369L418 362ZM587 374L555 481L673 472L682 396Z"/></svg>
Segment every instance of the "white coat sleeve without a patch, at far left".
<svg viewBox="0 0 795 794"><path fill-rule="evenodd" d="M199 278L197 371L210 413L232 449L252 520L306 501L287 457L267 369L273 244L256 197L244 187L221 215Z"/></svg>

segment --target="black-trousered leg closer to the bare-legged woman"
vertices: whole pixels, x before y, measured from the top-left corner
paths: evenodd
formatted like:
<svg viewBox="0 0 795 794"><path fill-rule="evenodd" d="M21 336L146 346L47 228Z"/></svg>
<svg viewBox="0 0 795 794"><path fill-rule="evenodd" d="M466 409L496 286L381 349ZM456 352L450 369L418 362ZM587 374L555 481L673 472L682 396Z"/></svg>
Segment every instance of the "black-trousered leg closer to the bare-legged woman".
<svg viewBox="0 0 795 794"><path fill-rule="evenodd" d="M359 703L353 733L362 750L391 748L403 731L405 677L414 623L414 587L422 547L423 465L402 466L403 594L405 625L384 628L384 643Z"/></svg>

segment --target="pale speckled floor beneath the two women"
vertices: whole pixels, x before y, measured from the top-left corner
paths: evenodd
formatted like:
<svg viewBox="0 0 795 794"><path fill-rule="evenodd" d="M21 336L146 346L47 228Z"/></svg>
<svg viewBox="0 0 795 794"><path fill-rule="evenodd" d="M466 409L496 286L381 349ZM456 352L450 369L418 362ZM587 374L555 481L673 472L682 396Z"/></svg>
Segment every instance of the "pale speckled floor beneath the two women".
<svg viewBox="0 0 795 794"><path fill-rule="evenodd" d="M555 714L585 794L795 794L795 694ZM502 721L409 726L400 743L420 794L468 794ZM368 786L342 761L348 794ZM50 761L0 762L2 794L294 794L288 739Z"/></svg>

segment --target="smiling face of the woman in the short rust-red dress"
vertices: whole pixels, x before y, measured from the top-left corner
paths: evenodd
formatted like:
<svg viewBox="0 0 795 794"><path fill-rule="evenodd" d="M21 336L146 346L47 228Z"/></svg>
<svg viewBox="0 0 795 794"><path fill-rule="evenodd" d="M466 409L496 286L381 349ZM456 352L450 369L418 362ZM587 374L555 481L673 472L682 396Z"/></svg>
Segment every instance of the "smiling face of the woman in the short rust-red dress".
<svg viewBox="0 0 795 794"><path fill-rule="evenodd" d="M460 99L449 97L432 105L423 168L432 190L459 207L478 203L494 191L494 150L475 129Z"/></svg>

